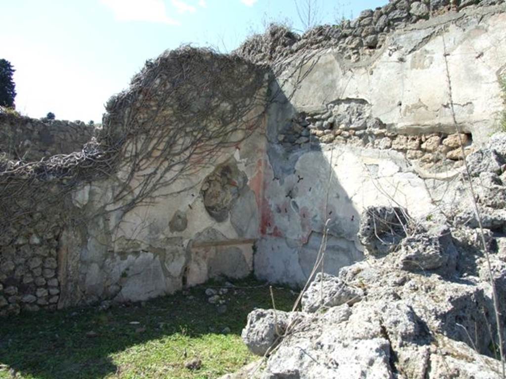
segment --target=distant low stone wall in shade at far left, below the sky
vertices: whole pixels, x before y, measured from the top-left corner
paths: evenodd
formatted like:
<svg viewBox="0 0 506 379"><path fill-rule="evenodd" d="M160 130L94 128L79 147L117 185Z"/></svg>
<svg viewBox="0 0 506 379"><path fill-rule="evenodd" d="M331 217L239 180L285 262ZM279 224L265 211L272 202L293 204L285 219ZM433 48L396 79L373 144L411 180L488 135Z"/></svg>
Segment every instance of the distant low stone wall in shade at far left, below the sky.
<svg viewBox="0 0 506 379"><path fill-rule="evenodd" d="M95 133L81 121L37 120L0 110L0 155L37 161L57 154L80 151Z"/></svg>

